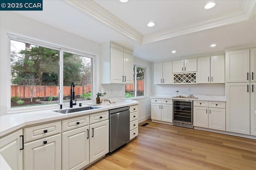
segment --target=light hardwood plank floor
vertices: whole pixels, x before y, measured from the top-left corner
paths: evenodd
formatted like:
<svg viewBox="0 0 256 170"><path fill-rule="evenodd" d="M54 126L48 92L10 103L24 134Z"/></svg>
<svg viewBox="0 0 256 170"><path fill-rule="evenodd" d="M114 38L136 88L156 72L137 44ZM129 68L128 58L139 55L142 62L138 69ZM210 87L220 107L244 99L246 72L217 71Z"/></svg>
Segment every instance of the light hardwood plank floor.
<svg viewBox="0 0 256 170"><path fill-rule="evenodd" d="M150 123L145 127L140 125ZM139 135L88 170L256 170L256 140L151 120Z"/></svg>

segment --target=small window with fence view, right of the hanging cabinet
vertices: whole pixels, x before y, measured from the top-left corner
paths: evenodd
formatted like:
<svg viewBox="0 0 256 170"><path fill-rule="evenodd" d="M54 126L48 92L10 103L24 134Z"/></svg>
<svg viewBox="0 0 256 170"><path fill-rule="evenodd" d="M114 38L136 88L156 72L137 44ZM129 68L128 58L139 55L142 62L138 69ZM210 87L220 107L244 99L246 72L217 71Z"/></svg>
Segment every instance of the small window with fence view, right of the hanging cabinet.
<svg viewBox="0 0 256 170"><path fill-rule="evenodd" d="M146 96L146 67L134 64L133 84L125 85L126 98L141 98Z"/></svg>

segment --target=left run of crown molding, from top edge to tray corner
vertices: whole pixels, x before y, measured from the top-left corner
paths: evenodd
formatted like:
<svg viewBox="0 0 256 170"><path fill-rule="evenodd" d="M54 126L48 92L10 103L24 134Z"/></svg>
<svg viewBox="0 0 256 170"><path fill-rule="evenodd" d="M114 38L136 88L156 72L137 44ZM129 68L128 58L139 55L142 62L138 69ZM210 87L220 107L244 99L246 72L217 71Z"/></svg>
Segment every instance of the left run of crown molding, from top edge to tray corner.
<svg viewBox="0 0 256 170"><path fill-rule="evenodd" d="M72 8L75 8L76 10L90 16L91 18L104 23L108 27L111 27L137 43L142 43L142 34L102 8L96 2L92 0L64 0L61 2L64 2Z"/></svg>

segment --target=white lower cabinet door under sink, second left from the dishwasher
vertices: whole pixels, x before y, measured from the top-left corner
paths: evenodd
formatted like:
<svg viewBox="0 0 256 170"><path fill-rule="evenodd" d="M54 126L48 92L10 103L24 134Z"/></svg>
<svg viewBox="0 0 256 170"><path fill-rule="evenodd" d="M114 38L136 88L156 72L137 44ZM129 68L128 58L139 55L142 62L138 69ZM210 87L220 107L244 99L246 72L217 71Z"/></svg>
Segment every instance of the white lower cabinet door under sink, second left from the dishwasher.
<svg viewBox="0 0 256 170"><path fill-rule="evenodd" d="M62 133L62 169L78 170L89 164L89 125Z"/></svg>

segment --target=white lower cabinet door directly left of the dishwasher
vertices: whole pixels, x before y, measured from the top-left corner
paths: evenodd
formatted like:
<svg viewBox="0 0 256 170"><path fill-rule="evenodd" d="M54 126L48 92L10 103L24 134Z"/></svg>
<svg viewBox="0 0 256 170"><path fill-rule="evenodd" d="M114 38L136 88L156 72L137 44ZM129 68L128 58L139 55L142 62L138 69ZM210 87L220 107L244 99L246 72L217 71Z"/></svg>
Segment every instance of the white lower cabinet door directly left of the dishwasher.
<svg viewBox="0 0 256 170"><path fill-rule="evenodd" d="M109 120L90 125L90 163L109 151Z"/></svg>

